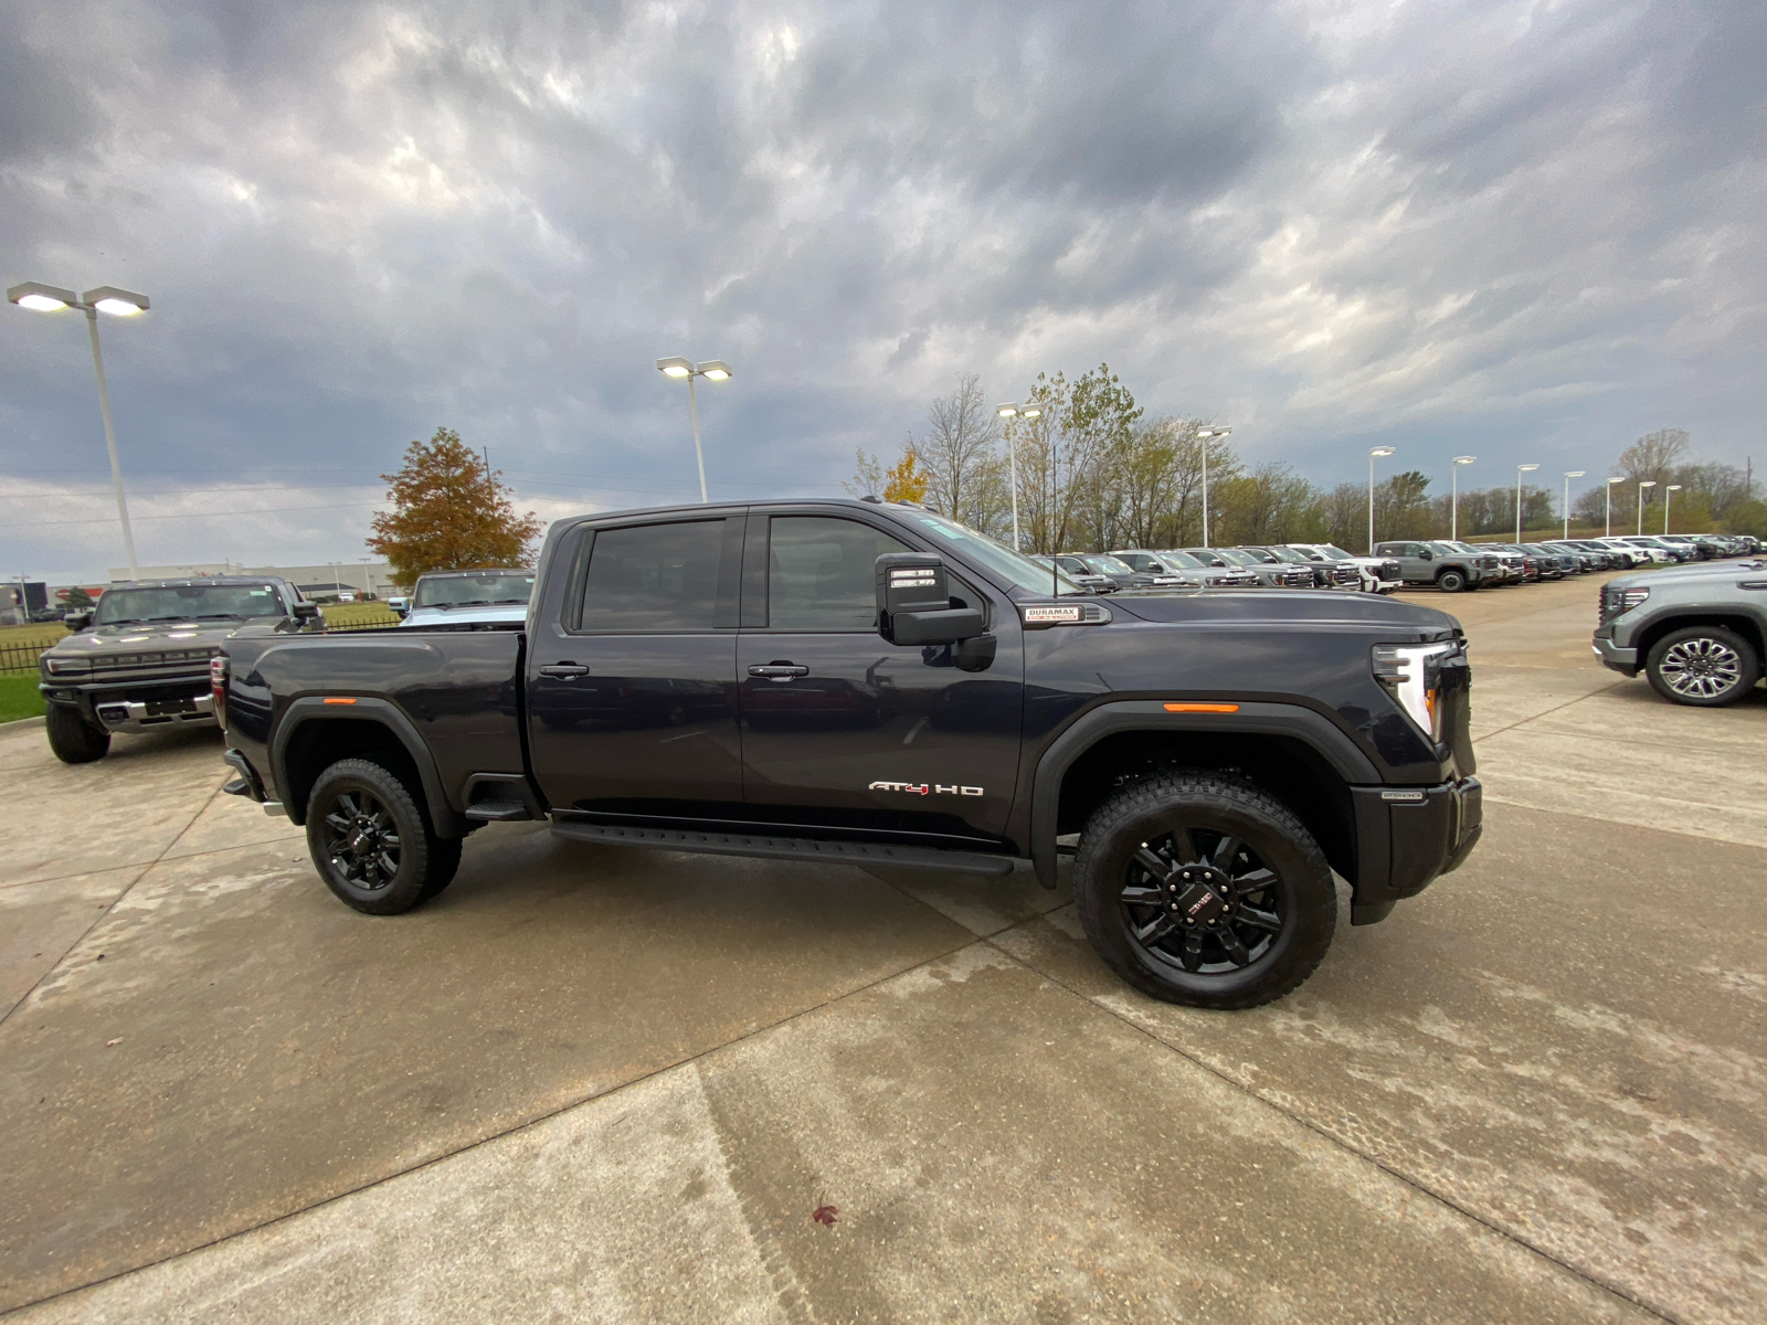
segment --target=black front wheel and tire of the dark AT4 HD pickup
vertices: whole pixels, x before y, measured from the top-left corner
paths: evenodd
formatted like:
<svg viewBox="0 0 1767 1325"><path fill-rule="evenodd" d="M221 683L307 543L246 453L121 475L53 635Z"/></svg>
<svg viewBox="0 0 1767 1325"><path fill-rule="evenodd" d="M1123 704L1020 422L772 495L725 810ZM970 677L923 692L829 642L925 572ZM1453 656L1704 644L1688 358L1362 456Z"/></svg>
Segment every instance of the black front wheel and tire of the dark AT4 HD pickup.
<svg viewBox="0 0 1767 1325"><path fill-rule="evenodd" d="M1320 965L1338 924L1331 867L1301 820L1202 770L1134 783L1094 811L1074 903L1124 980L1191 1007L1281 998Z"/></svg>

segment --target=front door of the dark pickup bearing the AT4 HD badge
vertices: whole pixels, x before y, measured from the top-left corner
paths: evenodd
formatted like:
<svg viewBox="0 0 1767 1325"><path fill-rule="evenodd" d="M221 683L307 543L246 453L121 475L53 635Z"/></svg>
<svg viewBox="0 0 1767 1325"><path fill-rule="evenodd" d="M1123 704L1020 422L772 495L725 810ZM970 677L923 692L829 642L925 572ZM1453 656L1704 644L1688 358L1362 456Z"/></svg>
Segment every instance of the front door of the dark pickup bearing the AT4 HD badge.
<svg viewBox="0 0 1767 1325"><path fill-rule="evenodd" d="M986 671L945 647L876 632L875 565L910 548L862 519L756 514L742 632L744 799L751 820L928 841L997 841L1018 772L1025 652L1018 613L952 576L990 613Z"/></svg>

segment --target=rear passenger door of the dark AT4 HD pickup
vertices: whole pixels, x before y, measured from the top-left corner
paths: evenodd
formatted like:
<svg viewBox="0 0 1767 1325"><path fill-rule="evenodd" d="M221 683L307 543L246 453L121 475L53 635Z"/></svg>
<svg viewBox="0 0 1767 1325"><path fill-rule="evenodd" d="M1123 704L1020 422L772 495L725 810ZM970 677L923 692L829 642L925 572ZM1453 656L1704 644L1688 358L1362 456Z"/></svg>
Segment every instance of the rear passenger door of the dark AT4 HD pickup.
<svg viewBox="0 0 1767 1325"><path fill-rule="evenodd" d="M574 601L528 641L528 742L553 809L740 814L742 526L730 516L583 530Z"/></svg>

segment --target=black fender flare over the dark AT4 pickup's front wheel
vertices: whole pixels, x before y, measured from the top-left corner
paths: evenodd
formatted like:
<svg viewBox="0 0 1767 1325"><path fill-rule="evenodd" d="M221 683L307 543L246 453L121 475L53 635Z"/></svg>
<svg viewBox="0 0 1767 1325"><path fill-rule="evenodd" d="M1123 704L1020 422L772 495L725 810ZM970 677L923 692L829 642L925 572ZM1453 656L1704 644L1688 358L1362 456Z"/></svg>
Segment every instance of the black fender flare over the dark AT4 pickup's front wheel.
<svg viewBox="0 0 1767 1325"><path fill-rule="evenodd" d="M1119 731L1246 731L1295 737L1320 754L1350 786L1382 781L1375 763L1336 723L1297 703L1248 701L1233 714L1172 714L1166 712L1166 703L1172 701L1101 703L1080 714L1037 758L1030 791L1030 862L1043 887L1055 887L1055 825L1062 804L1062 779L1081 754Z"/></svg>

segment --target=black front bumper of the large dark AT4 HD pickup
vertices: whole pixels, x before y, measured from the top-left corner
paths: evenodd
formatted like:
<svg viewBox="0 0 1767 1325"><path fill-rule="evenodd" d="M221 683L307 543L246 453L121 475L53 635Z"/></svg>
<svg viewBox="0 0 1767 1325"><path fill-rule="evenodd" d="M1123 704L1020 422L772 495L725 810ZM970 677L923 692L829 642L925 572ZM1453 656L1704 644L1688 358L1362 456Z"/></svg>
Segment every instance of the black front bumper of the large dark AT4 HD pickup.
<svg viewBox="0 0 1767 1325"><path fill-rule="evenodd" d="M1460 869L1484 832L1484 788L1477 777L1352 791L1359 859L1350 924L1385 920L1401 899Z"/></svg>

